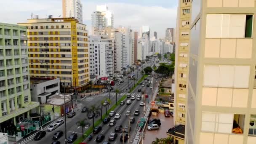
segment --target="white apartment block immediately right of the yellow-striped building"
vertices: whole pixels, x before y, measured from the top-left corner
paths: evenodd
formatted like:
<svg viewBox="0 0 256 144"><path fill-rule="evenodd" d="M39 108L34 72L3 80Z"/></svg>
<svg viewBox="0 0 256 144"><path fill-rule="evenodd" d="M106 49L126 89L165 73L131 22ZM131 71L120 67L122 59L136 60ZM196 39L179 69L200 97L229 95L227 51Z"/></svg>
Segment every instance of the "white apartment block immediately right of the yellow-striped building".
<svg viewBox="0 0 256 144"><path fill-rule="evenodd" d="M113 75L112 40L101 36L89 36L90 75Z"/></svg>

